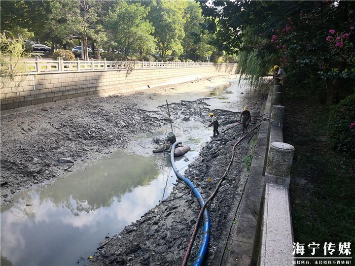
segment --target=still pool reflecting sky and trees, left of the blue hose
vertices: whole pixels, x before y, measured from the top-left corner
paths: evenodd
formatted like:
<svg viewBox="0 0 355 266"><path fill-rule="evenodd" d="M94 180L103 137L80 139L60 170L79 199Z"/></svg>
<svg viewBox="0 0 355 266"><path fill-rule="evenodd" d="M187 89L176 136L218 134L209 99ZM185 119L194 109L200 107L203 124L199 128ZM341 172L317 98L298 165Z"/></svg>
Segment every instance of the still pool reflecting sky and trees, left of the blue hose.
<svg viewBox="0 0 355 266"><path fill-rule="evenodd" d="M1 265L77 265L161 199L166 173L154 162L116 153L21 194L1 208Z"/></svg>

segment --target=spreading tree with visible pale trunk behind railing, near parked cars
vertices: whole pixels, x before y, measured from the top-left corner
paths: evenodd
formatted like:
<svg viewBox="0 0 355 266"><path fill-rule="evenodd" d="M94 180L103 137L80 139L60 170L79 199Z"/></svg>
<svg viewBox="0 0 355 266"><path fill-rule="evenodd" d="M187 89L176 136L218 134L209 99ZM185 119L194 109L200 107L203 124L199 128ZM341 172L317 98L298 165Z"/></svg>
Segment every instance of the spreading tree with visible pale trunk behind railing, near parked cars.
<svg viewBox="0 0 355 266"><path fill-rule="evenodd" d="M103 39L102 27L99 24L102 0L62 0L51 1L52 20L58 29L65 29L66 38L80 37L82 40L83 58L89 59L87 50L88 38Z"/></svg>

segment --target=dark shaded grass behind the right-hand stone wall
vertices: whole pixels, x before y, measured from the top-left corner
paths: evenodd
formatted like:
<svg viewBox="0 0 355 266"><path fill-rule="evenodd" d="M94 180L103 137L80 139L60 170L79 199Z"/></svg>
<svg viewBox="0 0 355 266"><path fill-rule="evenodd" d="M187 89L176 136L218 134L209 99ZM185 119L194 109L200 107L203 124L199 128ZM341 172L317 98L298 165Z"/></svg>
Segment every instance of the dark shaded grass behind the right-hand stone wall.
<svg viewBox="0 0 355 266"><path fill-rule="evenodd" d="M329 148L329 112L317 99L288 96L284 105L284 141L295 147L290 184L294 240L320 243L319 255L324 242L336 243L336 247L339 242L351 242L354 261L354 155Z"/></svg>

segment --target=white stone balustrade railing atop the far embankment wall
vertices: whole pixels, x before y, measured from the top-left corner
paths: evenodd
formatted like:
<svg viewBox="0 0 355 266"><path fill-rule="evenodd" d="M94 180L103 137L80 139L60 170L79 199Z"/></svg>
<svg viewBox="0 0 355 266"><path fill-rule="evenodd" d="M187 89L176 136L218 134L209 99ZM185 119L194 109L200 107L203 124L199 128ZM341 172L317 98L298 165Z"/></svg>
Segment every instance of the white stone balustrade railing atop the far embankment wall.
<svg viewBox="0 0 355 266"><path fill-rule="evenodd" d="M209 62L158 62L158 61L64 61L61 57L58 60L33 60L23 61L21 72L24 74L43 72L72 72L72 71L102 71L114 69L142 69L142 68L178 68L178 67L203 67L203 66L227 66L230 63L209 63Z"/></svg>

